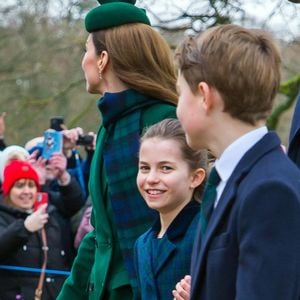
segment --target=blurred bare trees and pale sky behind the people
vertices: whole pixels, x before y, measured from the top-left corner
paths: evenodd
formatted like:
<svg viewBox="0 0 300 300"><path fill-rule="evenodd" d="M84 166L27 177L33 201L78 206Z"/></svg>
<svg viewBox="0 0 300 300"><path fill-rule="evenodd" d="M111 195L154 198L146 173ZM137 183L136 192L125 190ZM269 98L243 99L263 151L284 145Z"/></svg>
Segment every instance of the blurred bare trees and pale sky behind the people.
<svg viewBox="0 0 300 300"><path fill-rule="evenodd" d="M83 19L96 0L6 0L0 3L0 112L6 140L23 145L42 135L54 115L69 127L97 131L97 95L85 90ZM283 54L283 86L269 125L287 142L300 87L300 5L280 1L139 0L172 48L186 35L236 23L272 31ZM266 6L268 5L268 6ZM262 13L263 12L263 13Z"/></svg>

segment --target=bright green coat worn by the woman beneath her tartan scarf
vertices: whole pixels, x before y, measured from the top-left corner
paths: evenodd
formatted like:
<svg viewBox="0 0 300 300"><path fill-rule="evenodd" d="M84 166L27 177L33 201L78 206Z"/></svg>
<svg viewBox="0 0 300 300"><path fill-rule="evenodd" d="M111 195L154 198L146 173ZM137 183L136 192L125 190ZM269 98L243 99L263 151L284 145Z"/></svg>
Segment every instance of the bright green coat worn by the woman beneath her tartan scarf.
<svg viewBox="0 0 300 300"><path fill-rule="evenodd" d="M141 132L143 128L165 118L176 118L175 106L161 103L143 109L141 113ZM93 203L92 224L94 230L83 239L71 275L66 279L57 298L58 300L133 299L129 276L124 267L118 242L117 228L113 221L111 203L109 203L107 197L108 185L103 169L105 134L105 128L100 127L90 173L89 188ZM136 166L137 170L138 166ZM95 182L99 173L101 173L101 180ZM135 182L135 177L128 178L128 181ZM96 194L96 185L101 185L101 194ZM137 187L135 188L137 191ZM141 224L138 232L132 232L131 229L128 229L128 234L138 238L150 225L149 222ZM109 297L104 294L107 290L109 291Z"/></svg>

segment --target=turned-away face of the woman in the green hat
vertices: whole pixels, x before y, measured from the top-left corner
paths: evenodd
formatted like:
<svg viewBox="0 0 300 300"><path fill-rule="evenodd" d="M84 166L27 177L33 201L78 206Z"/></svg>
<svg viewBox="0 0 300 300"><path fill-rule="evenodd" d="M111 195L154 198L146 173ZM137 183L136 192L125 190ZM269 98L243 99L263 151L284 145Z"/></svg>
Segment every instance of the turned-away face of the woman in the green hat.
<svg viewBox="0 0 300 300"><path fill-rule="evenodd" d="M97 55L96 49L92 41L92 36L89 35L86 45L86 52L82 59L82 70L84 71L85 80L86 80L86 89L89 93L98 93L100 78L99 70L97 65Z"/></svg>

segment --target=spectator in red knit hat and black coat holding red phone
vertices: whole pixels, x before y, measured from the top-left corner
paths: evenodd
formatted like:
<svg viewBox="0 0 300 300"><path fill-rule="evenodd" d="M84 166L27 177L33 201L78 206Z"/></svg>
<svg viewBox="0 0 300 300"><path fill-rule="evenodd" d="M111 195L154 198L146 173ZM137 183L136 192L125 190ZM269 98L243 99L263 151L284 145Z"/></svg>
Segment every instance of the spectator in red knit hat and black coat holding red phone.
<svg viewBox="0 0 300 300"><path fill-rule="evenodd" d="M35 205L40 190L39 177L26 161L14 160L6 165L2 189L0 299L17 296L34 299L38 286L43 299L56 299L65 279L57 270L70 268L62 217L54 206L45 203L47 194L41 198L40 206ZM43 263L46 269L54 271L46 273L39 285Z"/></svg>

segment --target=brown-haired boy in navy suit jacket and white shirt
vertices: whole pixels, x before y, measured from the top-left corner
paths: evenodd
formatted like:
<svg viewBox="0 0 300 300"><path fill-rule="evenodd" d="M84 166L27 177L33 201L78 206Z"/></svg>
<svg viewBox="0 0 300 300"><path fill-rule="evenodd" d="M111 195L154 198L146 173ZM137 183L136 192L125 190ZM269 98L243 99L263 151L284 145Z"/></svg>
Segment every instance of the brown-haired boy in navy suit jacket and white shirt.
<svg viewBox="0 0 300 300"><path fill-rule="evenodd" d="M186 39L176 61L178 118L189 145L217 158L220 176L195 239L191 299L300 299L300 172L265 125L278 50L261 30L223 25ZM176 299L188 299L187 283Z"/></svg>

